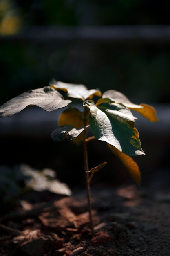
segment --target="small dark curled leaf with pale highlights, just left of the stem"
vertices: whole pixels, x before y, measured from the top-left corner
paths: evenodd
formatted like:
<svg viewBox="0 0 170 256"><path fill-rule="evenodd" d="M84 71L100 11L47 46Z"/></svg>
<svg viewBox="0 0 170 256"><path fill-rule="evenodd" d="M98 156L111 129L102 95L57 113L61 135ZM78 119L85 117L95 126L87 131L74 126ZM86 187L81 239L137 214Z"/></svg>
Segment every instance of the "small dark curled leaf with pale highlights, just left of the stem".
<svg viewBox="0 0 170 256"><path fill-rule="evenodd" d="M51 138L54 141L63 141L64 139L71 141L73 138L79 136L88 127L89 125L79 128L75 128L70 125L60 126L51 133Z"/></svg>

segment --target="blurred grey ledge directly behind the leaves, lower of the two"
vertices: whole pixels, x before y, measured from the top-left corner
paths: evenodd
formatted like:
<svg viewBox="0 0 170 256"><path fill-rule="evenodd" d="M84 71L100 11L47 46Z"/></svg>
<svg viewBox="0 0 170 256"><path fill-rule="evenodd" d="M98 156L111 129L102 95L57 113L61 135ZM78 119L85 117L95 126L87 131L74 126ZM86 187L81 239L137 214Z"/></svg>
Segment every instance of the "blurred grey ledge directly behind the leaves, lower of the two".
<svg viewBox="0 0 170 256"><path fill-rule="evenodd" d="M140 135L150 137L161 137L170 139L170 104L153 104L157 111L158 122L150 122L133 111L133 115L138 117L135 126ZM81 106L75 106L82 108ZM26 108L11 117L0 118L0 137L44 137L50 136L51 132L57 128L57 120L64 109L47 112L36 106Z"/></svg>

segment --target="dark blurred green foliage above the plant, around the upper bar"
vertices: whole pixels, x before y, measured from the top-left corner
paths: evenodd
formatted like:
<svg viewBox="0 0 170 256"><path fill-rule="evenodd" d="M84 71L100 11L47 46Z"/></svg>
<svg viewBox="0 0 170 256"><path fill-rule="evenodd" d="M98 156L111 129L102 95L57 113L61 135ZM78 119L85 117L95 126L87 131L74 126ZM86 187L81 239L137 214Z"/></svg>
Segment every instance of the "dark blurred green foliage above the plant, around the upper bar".
<svg viewBox="0 0 170 256"><path fill-rule="evenodd" d="M0 0L0 34L53 25L167 25L168 7L165 0ZM20 22L4 23L10 17ZM0 105L26 90L48 85L53 77L102 91L119 90L137 103L169 102L169 67L170 45L38 43L15 41L11 36L0 40Z"/></svg>

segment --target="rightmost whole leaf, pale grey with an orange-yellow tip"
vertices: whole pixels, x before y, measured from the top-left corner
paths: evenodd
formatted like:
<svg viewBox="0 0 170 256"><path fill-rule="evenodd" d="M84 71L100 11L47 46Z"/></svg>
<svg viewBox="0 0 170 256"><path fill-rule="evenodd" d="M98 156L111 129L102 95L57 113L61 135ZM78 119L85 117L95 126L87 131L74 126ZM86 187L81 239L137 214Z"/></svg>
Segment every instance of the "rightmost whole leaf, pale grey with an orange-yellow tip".
<svg viewBox="0 0 170 256"><path fill-rule="evenodd" d="M110 98L116 103L122 103L127 108L130 108L132 110L135 110L139 112L141 115L143 115L145 118L147 118L149 121L156 122L158 121L155 108L153 108L150 105L146 104L134 104L132 103L123 93L115 91L115 90L108 90L104 92L102 95L103 98Z"/></svg>

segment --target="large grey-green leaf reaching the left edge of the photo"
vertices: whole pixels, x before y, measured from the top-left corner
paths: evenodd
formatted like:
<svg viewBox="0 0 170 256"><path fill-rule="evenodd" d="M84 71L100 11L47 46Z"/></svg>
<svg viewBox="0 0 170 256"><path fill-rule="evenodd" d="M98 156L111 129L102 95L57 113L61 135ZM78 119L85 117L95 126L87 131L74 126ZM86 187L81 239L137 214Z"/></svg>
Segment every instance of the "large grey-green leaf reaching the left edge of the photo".
<svg viewBox="0 0 170 256"><path fill-rule="evenodd" d="M62 94L50 86L29 90L19 96L7 101L0 107L0 117L12 116L26 107L38 106L46 111L53 111L63 108L71 103L71 100L64 100Z"/></svg>

